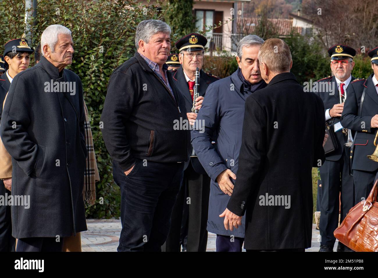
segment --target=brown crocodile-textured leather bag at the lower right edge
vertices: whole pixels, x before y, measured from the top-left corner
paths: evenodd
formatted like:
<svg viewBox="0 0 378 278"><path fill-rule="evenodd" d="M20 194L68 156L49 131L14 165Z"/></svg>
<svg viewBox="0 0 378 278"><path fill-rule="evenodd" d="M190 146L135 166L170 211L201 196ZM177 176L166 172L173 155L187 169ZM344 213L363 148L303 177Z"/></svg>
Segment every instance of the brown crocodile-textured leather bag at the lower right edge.
<svg viewBox="0 0 378 278"><path fill-rule="evenodd" d="M369 197L351 208L333 232L335 238L356 252L378 252L377 182L378 179Z"/></svg>

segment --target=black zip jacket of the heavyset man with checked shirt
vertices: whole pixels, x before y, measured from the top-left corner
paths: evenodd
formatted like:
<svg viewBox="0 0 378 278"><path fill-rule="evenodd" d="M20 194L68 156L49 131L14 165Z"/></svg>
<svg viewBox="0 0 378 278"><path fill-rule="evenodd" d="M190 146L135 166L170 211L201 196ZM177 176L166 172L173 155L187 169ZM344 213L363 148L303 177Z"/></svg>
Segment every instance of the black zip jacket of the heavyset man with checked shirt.
<svg viewBox="0 0 378 278"><path fill-rule="evenodd" d="M167 78L175 98L138 52L110 76L102 136L123 171L135 158L160 163L189 159L190 130L175 129L175 122L187 119L184 97L170 71Z"/></svg>

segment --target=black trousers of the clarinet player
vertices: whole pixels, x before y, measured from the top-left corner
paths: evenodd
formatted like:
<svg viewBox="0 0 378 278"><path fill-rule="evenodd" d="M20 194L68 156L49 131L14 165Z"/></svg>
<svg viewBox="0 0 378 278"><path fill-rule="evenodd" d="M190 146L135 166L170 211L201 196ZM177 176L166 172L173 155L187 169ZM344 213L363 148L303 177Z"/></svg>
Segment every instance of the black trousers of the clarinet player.
<svg viewBox="0 0 378 278"><path fill-rule="evenodd" d="M163 250L180 252L180 233L183 210L188 208L187 252L206 252L208 231L210 178L197 174L189 163L184 171L183 184L172 212L172 225ZM187 196L187 197L186 197Z"/></svg>

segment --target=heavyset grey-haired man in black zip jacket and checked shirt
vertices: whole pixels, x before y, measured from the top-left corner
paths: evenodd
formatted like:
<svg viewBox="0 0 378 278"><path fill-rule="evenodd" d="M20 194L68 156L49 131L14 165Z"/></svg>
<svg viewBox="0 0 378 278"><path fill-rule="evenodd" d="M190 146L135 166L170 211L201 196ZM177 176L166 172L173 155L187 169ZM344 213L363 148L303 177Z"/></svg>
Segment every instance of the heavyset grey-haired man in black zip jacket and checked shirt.
<svg viewBox="0 0 378 278"><path fill-rule="evenodd" d="M175 125L187 121L187 111L165 64L170 27L143 20L135 46L135 56L110 76L102 134L124 178L118 251L159 252L189 159L190 133L188 125Z"/></svg>

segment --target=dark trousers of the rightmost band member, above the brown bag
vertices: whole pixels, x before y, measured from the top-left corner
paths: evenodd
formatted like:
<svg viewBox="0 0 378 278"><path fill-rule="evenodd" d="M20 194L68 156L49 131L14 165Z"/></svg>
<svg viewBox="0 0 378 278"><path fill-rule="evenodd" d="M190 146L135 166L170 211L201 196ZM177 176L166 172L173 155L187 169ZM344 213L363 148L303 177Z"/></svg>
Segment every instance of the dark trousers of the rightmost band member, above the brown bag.
<svg viewBox="0 0 378 278"><path fill-rule="evenodd" d="M355 205L362 200L366 200L373 188L376 172L353 170L355 182Z"/></svg>

